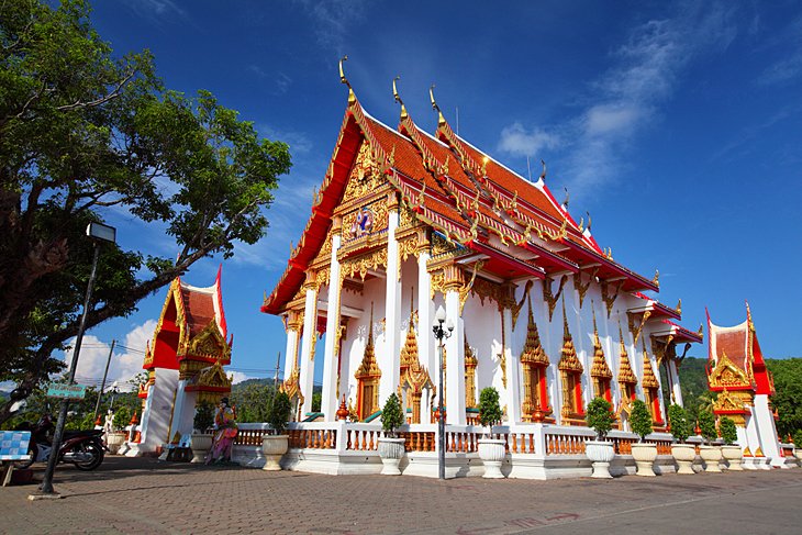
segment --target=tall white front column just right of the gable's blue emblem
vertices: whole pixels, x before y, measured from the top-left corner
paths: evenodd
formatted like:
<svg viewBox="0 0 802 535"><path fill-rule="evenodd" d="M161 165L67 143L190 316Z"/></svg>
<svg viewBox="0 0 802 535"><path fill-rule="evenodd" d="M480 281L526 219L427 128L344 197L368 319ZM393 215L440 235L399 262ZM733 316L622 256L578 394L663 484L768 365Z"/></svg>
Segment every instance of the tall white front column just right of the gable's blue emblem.
<svg viewBox="0 0 802 535"><path fill-rule="evenodd" d="M385 290L385 350L383 355L377 354L380 358L379 368L379 409L385 401L396 392L401 372L401 280L399 279L398 241L396 229L398 229L398 210L388 212L387 229L387 286ZM383 357L383 358L382 358Z"/></svg>

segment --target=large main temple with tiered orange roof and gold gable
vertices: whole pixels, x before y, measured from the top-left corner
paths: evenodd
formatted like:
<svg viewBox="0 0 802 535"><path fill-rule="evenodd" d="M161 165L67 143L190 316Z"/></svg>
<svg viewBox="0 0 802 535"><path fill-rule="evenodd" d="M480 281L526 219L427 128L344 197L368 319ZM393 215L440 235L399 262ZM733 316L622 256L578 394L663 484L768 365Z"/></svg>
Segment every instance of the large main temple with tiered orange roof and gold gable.
<svg viewBox="0 0 802 535"><path fill-rule="evenodd" d="M702 334L677 323L679 305L644 293L659 291L658 275L602 248L590 221L552 194L545 164L530 181L457 135L432 91L427 133L396 82L393 129L342 80L348 102L331 163L261 306L286 326L283 388L298 416L311 413L320 368L326 422L343 401L369 422L400 392L410 425L432 424L442 387L447 424L468 425L492 386L505 424L583 427L602 395L619 427L642 399L665 430L664 399L682 402L677 346ZM455 324L443 386L432 335L441 305Z"/></svg>

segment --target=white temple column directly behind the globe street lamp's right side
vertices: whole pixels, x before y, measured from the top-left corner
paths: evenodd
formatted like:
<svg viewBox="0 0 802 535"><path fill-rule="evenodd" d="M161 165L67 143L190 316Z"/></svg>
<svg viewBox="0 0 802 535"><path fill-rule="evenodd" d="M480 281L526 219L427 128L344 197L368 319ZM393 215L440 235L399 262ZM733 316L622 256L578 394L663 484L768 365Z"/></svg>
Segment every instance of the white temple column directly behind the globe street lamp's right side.
<svg viewBox="0 0 802 535"><path fill-rule="evenodd" d="M446 322L454 322L446 341L446 423L465 425L465 324L459 314L459 292L446 291Z"/></svg>

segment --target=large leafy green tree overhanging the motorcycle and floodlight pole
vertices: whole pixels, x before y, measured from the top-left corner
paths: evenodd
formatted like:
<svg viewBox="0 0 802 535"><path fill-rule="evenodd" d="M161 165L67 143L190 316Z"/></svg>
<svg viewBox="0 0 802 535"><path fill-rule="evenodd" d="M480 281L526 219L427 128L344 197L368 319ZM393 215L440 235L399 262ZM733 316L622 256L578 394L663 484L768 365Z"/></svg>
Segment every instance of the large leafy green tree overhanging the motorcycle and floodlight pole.
<svg viewBox="0 0 802 535"><path fill-rule="evenodd" d="M102 247L87 326L126 315L198 259L267 225L286 144L208 91L168 91L145 51L114 56L86 0L5 0L0 16L0 423L62 363L78 331L103 210L171 236L177 260Z"/></svg>

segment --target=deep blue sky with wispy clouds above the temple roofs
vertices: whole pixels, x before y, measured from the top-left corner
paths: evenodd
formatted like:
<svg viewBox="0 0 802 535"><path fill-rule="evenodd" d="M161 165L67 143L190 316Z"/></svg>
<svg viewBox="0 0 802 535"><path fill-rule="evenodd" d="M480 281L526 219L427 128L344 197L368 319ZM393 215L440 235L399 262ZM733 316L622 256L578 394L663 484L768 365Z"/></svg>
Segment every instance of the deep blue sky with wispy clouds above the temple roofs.
<svg viewBox="0 0 802 535"><path fill-rule="evenodd" d="M704 308L739 323L748 300L764 353L802 356L802 8L799 2L96 2L116 53L149 48L167 87L211 90L293 168L268 211L268 234L223 266L237 377L271 376L285 333L258 312L298 242L346 105L337 59L365 109L398 124L391 81L432 132L428 87L471 144L526 176L545 159L558 199L614 258L682 298L683 325ZM535 175L536 176L536 175ZM124 247L174 256L158 229L109 214ZM587 216L586 216L587 220ZM220 259L185 280L211 285ZM141 363L165 291L90 332L79 380ZM705 346L690 355L705 356ZM86 364L83 360L86 359ZM125 376L125 377L124 377Z"/></svg>

